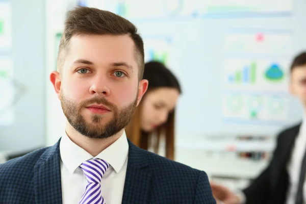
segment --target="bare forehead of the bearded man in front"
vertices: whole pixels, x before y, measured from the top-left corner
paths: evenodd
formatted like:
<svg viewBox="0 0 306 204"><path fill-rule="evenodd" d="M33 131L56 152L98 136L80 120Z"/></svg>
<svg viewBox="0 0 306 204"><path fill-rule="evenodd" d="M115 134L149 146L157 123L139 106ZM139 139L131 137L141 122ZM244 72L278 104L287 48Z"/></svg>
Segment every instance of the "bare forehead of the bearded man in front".
<svg viewBox="0 0 306 204"><path fill-rule="evenodd" d="M129 35L82 35L70 39L65 64L78 59L94 64L127 62L137 68L134 42Z"/></svg>

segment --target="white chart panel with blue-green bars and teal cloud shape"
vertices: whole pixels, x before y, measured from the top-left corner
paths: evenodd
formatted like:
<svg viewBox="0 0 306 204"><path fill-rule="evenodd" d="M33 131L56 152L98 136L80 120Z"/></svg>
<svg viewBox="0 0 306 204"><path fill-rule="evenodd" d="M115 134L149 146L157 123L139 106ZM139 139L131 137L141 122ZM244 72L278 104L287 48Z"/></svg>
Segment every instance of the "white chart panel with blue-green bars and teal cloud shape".
<svg viewBox="0 0 306 204"><path fill-rule="evenodd" d="M231 90L288 90L289 62L269 59L226 59L224 87Z"/></svg>

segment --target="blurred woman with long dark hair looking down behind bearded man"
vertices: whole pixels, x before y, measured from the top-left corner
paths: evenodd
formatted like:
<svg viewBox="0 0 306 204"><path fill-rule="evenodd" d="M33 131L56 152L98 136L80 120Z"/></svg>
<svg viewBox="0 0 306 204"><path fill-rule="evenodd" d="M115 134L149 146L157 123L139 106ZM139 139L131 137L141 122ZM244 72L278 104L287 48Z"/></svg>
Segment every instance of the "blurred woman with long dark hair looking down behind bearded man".
<svg viewBox="0 0 306 204"><path fill-rule="evenodd" d="M144 94L125 131L140 148L159 154L161 140L165 157L174 159L174 118L177 99L182 93L179 81L162 63L145 64L143 79L149 81Z"/></svg>

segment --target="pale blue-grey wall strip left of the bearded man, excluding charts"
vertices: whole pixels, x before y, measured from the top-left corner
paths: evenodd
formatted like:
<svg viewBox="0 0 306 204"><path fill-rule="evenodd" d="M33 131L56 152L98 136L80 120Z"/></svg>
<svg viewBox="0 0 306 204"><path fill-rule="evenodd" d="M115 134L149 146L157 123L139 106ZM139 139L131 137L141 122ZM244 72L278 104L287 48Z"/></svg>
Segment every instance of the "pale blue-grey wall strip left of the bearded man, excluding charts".
<svg viewBox="0 0 306 204"><path fill-rule="evenodd" d="M12 49L0 55L12 57L13 78L25 92L17 92L13 121L0 126L0 151L22 151L45 144L44 1L6 2L12 4Z"/></svg>

